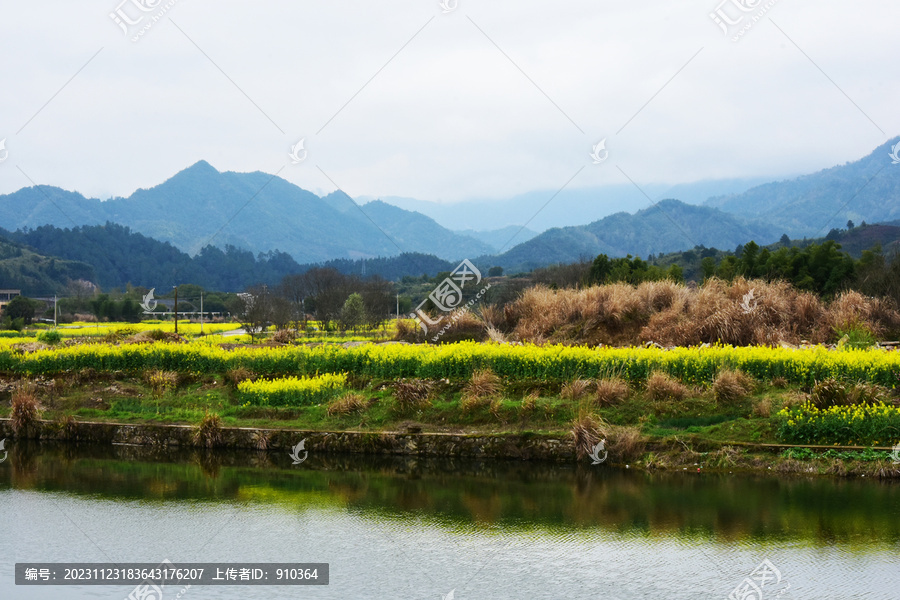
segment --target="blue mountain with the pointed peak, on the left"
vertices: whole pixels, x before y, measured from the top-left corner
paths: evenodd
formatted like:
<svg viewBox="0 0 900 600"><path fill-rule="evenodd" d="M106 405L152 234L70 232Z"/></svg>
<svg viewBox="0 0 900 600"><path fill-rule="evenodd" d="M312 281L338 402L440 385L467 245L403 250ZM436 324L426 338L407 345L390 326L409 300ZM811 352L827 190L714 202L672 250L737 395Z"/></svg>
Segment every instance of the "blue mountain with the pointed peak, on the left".
<svg viewBox="0 0 900 600"><path fill-rule="evenodd" d="M220 173L205 161L128 198L100 201L50 186L24 188L0 196L0 222L7 229L112 222L190 254L232 245L286 252L307 263L401 252L458 260L492 251L421 214L383 203L361 208L342 192L320 198L273 175Z"/></svg>

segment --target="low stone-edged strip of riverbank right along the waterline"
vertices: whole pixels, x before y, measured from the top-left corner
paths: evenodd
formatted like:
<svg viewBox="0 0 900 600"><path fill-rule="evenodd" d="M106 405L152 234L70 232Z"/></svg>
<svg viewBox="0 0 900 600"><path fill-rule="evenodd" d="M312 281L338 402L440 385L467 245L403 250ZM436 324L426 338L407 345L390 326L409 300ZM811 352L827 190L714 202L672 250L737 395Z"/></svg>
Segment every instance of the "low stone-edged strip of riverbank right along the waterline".
<svg viewBox="0 0 900 600"><path fill-rule="evenodd" d="M696 435L642 440L639 454L624 463L609 458L594 464L579 459L574 437L535 433L485 434L423 433L412 426L406 431L308 431L222 427L214 438L189 425L124 424L37 421L16 436L9 419L0 419L0 439L15 452L16 442L64 442L75 445L134 446L148 449L207 451L247 450L264 454L294 455L305 462L310 455L356 454L419 458L492 459L583 464L592 468L628 468L646 471L697 471L714 473L772 472L784 475L822 475L900 479L900 463L891 448L862 446L792 446L718 442ZM22 433L22 432L20 432ZM298 444L302 447L294 451ZM603 458L603 454L600 454Z"/></svg>

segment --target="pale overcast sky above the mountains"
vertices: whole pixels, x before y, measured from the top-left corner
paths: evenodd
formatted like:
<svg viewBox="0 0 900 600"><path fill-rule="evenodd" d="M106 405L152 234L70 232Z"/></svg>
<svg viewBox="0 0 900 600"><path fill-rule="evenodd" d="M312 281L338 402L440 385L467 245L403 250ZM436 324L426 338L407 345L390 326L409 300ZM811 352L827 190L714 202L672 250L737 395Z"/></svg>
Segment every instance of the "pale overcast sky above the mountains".
<svg viewBox="0 0 900 600"><path fill-rule="evenodd" d="M205 159L448 202L777 178L900 133L895 1L120 1L0 0L0 193Z"/></svg>

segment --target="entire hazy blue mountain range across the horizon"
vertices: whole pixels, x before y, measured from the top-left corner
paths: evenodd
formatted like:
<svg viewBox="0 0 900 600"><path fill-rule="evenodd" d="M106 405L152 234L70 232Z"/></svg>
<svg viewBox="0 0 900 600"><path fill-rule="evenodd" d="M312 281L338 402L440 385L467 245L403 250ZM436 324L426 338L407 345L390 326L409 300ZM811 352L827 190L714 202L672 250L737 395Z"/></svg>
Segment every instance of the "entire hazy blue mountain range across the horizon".
<svg viewBox="0 0 900 600"><path fill-rule="evenodd" d="M732 191L696 204L685 203L684 198L651 203L643 197L644 208L633 214L607 213L588 224L555 227L540 234L515 224L528 224L521 215L527 215L530 208L518 207L514 211L509 204L512 200L496 205L457 206L454 214L466 214L467 219L441 224L423 214L426 207L416 201L407 199L406 208L385 200L359 204L340 190L320 197L277 176L261 172L221 173L205 161L127 198L101 201L51 186L23 188L0 196L0 226L27 233L42 225L75 230L86 225L118 224L128 228L129 235L141 234L170 243L172 251L195 257L205 252L206 261L219 255L238 257L241 252L249 253L254 260L258 256L267 264L274 261L278 268L272 273L298 263L345 264L401 253L433 255L444 261L472 258L479 266L502 266L507 273L514 273L592 258L599 253L647 257L698 245L729 249L751 239L759 244L771 243L785 233L794 239L819 237L830 228L843 226L848 219L870 224L897 220L900 166L893 164L891 153L898 143L900 138L895 138L858 161L739 192L733 190L753 182L728 180L666 188L695 201L702 190ZM626 191L607 190L623 197ZM634 192L631 189L629 193ZM576 194L578 202L585 202L591 193L580 191ZM546 204L542 194L526 196L529 202L539 198ZM422 211L409 210L416 207ZM576 211L569 219L583 222L588 215L597 214L591 210ZM510 212L515 214L507 214ZM506 220L502 219L503 214L507 214ZM485 218L492 215L496 218ZM491 223L495 229L460 227L471 222ZM445 226L448 224L457 230ZM87 232L83 227L78 231L79 235ZM16 241L30 243L25 238ZM123 242L123 260L138 263L141 257L131 257L129 253L135 252L133 248L143 248L143 244ZM223 249L228 248L231 250L223 254ZM62 250L53 248L53 256L84 260L77 252ZM186 258L176 262L187 265ZM90 262L98 267L95 263ZM198 263L201 264L203 261ZM240 264L250 263L241 255Z"/></svg>

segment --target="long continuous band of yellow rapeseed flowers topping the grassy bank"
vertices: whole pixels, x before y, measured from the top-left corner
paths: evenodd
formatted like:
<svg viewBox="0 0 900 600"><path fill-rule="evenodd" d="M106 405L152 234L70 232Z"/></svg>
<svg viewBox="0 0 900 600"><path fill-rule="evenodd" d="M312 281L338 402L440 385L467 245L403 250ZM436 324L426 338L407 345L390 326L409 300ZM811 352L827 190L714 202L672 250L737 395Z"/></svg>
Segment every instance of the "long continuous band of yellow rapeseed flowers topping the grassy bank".
<svg viewBox="0 0 900 600"><path fill-rule="evenodd" d="M30 353L0 347L0 371L25 376L93 369L140 372L224 373L238 367L263 377L354 373L384 379L463 380L488 368L503 378L571 381L620 377L639 383L663 371L687 384L710 383L723 368L758 380L797 385L823 379L861 381L896 388L900 352L878 349L833 351L712 346L696 348L587 348L460 342L441 346L366 344L353 348L282 346L226 350L204 341L191 343L85 344Z"/></svg>

